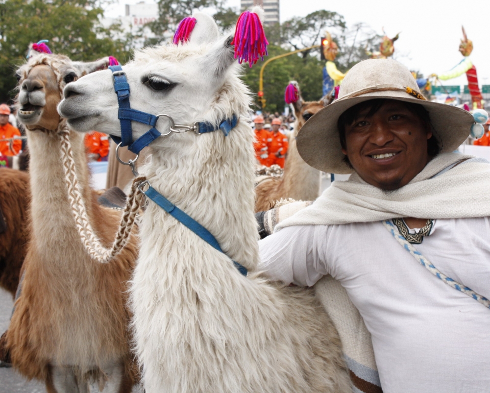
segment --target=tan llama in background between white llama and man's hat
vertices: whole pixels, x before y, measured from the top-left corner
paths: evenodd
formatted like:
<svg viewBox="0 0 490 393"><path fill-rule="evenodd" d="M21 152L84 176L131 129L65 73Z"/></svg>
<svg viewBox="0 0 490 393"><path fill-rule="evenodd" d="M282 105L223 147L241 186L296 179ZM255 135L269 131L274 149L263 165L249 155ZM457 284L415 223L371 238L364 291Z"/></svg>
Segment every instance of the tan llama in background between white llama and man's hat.
<svg viewBox="0 0 490 393"><path fill-rule="evenodd" d="M271 209L281 198L295 200L315 200L320 193L320 171L310 167L298 153L296 136L306 121L321 108L332 102L327 94L319 101L304 101L298 83L290 82L298 90L298 100L291 105L294 108L294 132L289 141L288 155L282 177L268 177L255 187L255 211Z"/></svg>

